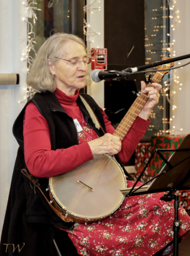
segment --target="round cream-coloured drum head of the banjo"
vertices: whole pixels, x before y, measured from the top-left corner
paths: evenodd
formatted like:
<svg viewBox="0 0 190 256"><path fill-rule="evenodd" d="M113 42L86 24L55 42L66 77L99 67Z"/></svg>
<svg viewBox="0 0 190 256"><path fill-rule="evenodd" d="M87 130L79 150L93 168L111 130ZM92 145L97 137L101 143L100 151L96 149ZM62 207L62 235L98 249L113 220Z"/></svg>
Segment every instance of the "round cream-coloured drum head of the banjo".
<svg viewBox="0 0 190 256"><path fill-rule="evenodd" d="M126 188L126 179L113 157L94 155L74 170L49 178L49 188L61 209L79 219L95 220L119 208L125 198L120 189Z"/></svg>

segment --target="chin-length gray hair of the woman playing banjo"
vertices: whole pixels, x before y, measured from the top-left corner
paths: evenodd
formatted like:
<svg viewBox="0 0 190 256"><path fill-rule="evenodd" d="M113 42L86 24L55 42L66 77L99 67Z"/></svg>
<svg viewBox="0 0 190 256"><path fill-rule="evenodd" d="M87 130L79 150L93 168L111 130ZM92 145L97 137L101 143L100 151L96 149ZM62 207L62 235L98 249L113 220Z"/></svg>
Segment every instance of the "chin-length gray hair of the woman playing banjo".
<svg viewBox="0 0 190 256"><path fill-rule="evenodd" d="M56 90L54 75L49 72L48 59L51 60L52 64L55 64L59 59L54 58L54 56L60 56L62 45L68 40L74 40L82 44L86 49L84 41L77 35L66 33L56 33L52 35L45 41L37 53L37 57L26 79L28 86L40 92L48 90L53 93Z"/></svg>

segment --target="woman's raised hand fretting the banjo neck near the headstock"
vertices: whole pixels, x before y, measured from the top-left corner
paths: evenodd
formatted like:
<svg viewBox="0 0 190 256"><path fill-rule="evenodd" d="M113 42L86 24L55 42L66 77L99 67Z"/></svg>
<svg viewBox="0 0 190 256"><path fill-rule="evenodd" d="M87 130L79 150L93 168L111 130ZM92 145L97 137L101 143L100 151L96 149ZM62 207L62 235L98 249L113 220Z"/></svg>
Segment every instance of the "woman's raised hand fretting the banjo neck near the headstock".
<svg viewBox="0 0 190 256"><path fill-rule="evenodd" d="M162 89L161 84L152 83L152 87L146 87L144 81L141 81L141 92L148 93L148 101L146 102L145 106L142 108L142 111L139 113L139 117L142 119L148 119L153 107L158 104L159 102L159 91Z"/></svg>

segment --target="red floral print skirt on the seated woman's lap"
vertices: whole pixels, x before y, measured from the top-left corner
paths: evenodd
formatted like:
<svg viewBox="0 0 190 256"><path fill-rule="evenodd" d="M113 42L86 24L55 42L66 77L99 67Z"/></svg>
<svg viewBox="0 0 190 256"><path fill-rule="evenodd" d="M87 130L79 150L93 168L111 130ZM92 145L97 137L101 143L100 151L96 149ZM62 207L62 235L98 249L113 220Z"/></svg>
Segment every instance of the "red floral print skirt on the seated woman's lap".
<svg viewBox="0 0 190 256"><path fill-rule="evenodd" d="M127 182L128 187L134 184ZM101 224L75 223L73 230L67 230L68 236L83 256L151 256L173 240L173 201L160 201L162 195L125 198L111 219ZM179 236L184 239L190 230L190 217L182 207L179 220ZM163 255L172 255L172 247L167 247Z"/></svg>

